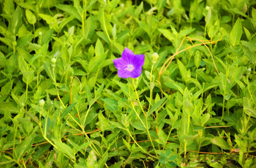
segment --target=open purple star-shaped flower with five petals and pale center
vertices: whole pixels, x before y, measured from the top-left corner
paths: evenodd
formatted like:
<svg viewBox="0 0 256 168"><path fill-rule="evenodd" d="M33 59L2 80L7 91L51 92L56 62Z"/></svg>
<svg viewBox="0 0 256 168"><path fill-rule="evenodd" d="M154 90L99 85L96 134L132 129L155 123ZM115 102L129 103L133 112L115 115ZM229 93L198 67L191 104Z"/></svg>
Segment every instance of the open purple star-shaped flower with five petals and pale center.
<svg viewBox="0 0 256 168"><path fill-rule="evenodd" d="M144 64L144 55L135 55L131 50L125 48L122 58L114 59L119 78L137 78L140 76Z"/></svg>

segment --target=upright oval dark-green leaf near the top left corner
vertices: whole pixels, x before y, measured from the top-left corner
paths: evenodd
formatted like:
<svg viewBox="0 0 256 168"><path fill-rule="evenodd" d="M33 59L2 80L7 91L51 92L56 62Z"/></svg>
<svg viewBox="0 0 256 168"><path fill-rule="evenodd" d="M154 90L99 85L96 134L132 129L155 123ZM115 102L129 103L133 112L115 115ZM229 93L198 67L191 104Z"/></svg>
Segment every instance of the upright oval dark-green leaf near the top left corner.
<svg viewBox="0 0 256 168"><path fill-rule="evenodd" d="M22 17L21 8L18 6L15 12L13 12L12 19L8 26L8 30L13 36L16 36L16 34L18 33L21 27L21 24L22 24L21 17Z"/></svg>

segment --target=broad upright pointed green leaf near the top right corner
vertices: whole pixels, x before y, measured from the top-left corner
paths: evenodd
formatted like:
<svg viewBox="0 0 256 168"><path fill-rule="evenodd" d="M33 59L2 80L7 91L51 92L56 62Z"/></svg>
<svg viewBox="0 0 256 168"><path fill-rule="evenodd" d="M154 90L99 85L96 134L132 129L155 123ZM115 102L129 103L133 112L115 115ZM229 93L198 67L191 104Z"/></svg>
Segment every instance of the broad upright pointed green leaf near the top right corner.
<svg viewBox="0 0 256 168"><path fill-rule="evenodd" d="M238 18L230 32L230 42L233 46L238 45L242 36L242 23L240 18Z"/></svg>

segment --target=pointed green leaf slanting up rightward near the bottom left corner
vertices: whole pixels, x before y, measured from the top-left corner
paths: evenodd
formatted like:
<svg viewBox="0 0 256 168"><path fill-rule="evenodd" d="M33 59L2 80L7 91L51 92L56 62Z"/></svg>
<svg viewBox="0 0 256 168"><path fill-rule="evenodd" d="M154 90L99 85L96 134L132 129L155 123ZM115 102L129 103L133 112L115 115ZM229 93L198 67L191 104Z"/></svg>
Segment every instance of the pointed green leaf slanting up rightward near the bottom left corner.
<svg viewBox="0 0 256 168"><path fill-rule="evenodd" d="M18 160L27 152L27 150L31 149L33 141L35 138L35 133L32 133L28 138L23 140L18 146L16 147L16 153L18 155Z"/></svg>

